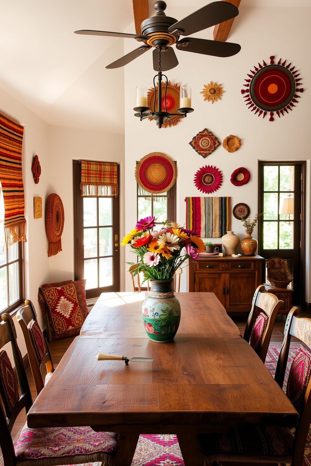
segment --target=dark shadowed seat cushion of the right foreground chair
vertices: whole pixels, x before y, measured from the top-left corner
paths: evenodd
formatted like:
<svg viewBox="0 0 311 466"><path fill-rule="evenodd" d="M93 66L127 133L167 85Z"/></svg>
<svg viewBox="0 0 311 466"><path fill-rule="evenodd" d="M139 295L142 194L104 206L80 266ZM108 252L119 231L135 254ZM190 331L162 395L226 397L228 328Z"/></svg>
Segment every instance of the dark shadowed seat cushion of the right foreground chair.
<svg viewBox="0 0 311 466"><path fill-rule="evenodd" d="M228 432L200 434L206 462L257 461L290 463L293 435L286 427L241 425Z"/></svg>

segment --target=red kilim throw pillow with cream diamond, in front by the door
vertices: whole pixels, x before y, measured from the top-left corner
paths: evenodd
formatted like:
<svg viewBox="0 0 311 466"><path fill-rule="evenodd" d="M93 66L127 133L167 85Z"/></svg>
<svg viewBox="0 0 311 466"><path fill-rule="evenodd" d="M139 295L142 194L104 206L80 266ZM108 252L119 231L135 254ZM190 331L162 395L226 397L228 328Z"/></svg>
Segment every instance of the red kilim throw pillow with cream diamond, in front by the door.
<svg viewBox="0 0 311 466"><path fill-rule="evenodd" d="M42 288L52 340L78 335L85 320L73 282L55 288ZM65 335L66 334L66 335Z"/></svg>

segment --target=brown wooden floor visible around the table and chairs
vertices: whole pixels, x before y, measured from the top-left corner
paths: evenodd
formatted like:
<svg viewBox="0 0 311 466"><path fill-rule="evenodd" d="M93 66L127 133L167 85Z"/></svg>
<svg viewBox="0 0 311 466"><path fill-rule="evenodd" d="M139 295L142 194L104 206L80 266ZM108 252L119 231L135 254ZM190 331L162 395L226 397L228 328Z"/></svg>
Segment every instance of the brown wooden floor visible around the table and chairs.
<svg viewBox="0 0 311 466"><path fill-rule="evenodd" d="M311 317L310 314L305 313L305 312L302 312L300 315ZM241 334L243 335L245 325L247 322L247 315L241 316L241 317L231 315L231 318L235 322L235 325L238 327ZM276 322L273 327L271 342L281 343L283 341L283 331L284 331L285 320L286 320L286 317L284 315L276 316ZM60 362L60 360L62 359L62 356L66 352L67 348L69 348L69 345L74 340L74 338L75 337L69 337L69 338L64 338L62 340L55 340L54 342L49 342L49 347L50 347L54 366L56 366ZM32 377L32 373L30 370L27 375L28 375L28 381L29 381L32 397L33 397L33 400L35 400L36 398L35 383L34 383L34 379ZM57 403L57 400L55 400L55 403ZM21 411L21 413L19 414L18 418L15 421L15 424L12 430L12 439L16 437L17 433L19 432L21 427L25 424L25 422L26 422L25 411ZM0 454L1 454L1 450L0 450Z"/></svg>

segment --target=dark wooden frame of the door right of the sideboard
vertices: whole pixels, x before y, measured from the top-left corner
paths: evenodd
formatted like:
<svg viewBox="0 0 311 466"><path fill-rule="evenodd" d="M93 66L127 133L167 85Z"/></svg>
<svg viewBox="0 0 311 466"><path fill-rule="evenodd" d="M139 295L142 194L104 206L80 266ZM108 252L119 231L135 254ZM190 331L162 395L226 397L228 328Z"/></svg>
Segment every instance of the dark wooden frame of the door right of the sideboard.
<svg viewBox="0 0 311 466"><path fill-rule="evenodd" d="M259 160L258 161L258 212L262 212L261 206L261 190L262 190L262 165L301 165L301 230L300 230L300 304L301 308L308 309L310 303L305 301L305 267L306 267L306 258L305 258L305 222L306 222L306 160ZM263 238L263 219L259 217L258 219L258 254L261 255L261 242ZM263 267L263 280L264 280L265 267ZM309 309L308 309L309 310Z"/></svg>

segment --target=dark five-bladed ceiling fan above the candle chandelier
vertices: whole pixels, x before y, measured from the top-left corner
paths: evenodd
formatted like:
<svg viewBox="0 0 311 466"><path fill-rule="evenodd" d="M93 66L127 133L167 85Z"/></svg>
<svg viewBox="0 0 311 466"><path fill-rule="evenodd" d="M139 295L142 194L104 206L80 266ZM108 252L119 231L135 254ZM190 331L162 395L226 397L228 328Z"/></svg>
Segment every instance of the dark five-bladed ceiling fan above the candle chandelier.
<svg viewBox="0 0 311 466"><path fill-rule="evenodd" d="M173 48L170 47L174 44L176 44L178 50L219 57L232 56L241 50L241 46L233 42L209 41L206 39L197 39L195 37L180 39L180 36L194 34L203 29L207 29L207 27L235 18L235 16L239 14L239 10L227 1L214 1L213 3L209 3L181 21L166 16L164 13L166 9L165 1L156 1L154 9L156 10L155 16L151 16L141 23L141 35L109 31L90 31L85 29L75 31L75 33L128 37L144 43L127 55L107 65L106 68L108 69L124 66L152 47L154 48L153 69L155 71L159 68L158 51L165 52L161 59L162 71L167 71L178 65L175 52Z"/></svg>

